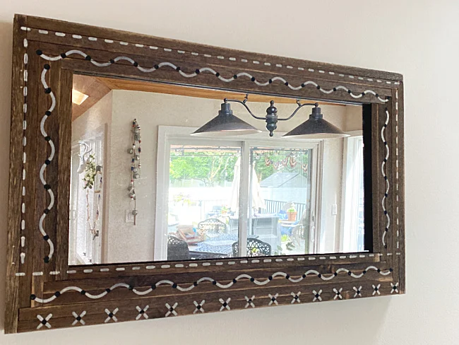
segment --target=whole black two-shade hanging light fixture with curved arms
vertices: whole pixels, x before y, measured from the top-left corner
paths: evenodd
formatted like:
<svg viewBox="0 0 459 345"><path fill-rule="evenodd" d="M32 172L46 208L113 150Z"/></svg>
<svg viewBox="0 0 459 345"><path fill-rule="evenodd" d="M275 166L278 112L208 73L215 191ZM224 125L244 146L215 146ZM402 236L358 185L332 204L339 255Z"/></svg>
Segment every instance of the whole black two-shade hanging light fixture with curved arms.
<svg viewBox="0 0 459 345"><path fill-rule="evenodd" d="M192 135L203 135L203 136L221 136L221 135L242 135L242 134L255 134L259 133L260 130L251 126L247 122L242 121L238 117L235 117L229 107L229 102L240 103L244 105L247 112L254 117L254 119L263 119L266 122L266 129L269 131L269 136L274 135L275 129L278 128L279 121L287 121L292 119L304 106L314 106L312 114L309 115L309 119L300 124L292 131L288 132L284 136L291 136L301 139L331 139L331 138L342 138L349 136L338 127L330 124L330 122L323 119L321 114L321 108L318 107L318 103L299 103L297 100L297 109L292 112L292 115L285 118L278 117L278 108L274 106L274 101L270 101L270 106L266 109L265 117L258 117L251 112L249 107L246 105L249 95L246 95L244 100L228 100L225 98L222 103L221 110L219 110L217 117L211 119L208 123L204 124L203 127L197 129Z"/></svg>

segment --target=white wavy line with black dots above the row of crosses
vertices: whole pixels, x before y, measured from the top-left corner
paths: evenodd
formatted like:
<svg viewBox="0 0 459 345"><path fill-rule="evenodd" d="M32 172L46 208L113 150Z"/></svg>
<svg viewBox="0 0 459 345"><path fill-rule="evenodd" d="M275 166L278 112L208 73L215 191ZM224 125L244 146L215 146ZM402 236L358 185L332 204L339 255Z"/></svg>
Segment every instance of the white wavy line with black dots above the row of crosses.
<svg viewBox="0 0 459 345"><path fill-rule="evenodd" d="M378 271L378 273L383 275L383 276L387 276L388 274L391 274L391 272L392 272L392 269L388 269L388 270L382 271L381 269L378 269L377 267L369 266L369 267L366 267L366 269L364 271L362 271L362 273L360 273L360 274L354 274L353 272L350 272L349 269L340 268L340 269L336 270L336 273L332 273L330 275L327 274L327 276L323 276L323 274L319 274L318 271L316 271L315 269L309 269L308 271L304 272L304 274L302 274L302 276L300 276L297 279L293 279L292 277L290 277L285 272L278 271L278 272L275 272L274 274L272 274L268 279L263 280L263 281L259 281L257 279L254 279L249 274L239 274L239 276L237 276L236 278L234 278L232 281L230 281L227 284L219 283L219 282L215 281L215 279L210 278L208 276L205 276L205 277L199 279L198 281L196 281L195 283L192 283L190 286L187 286L187 287L179 286L177 283L174 283L173 281L170 281L170 280L158 281L157 283L155 283L155 287L161 286L161 285L169 285L169 286L172 286L172 288L177 288L177 290L179 290L179 291L186 292L186 291L192 290L193 288L198 286L198 284L202 283L203 281L210 281L210 282L213 283L213 285L215 285L215 286L217 286L219 288L229 288L229 287L233 286L234 283L236 283L237 281L242 280L242 279L248 279L248 280L250 280L252 283L254 283L256 285L266 285L271 280L273 280L276 276L283 276L284 278L288 278L288 280L291 281L292 283L298 283L299 281L302 281L303 279L306 279L306 276L309 276L311 274L314 275L314 276L318 276L318 278L322 279L323 281L329 281L330 279L333 279L335 276L338 276L338 273L342 272L342 271L347 272L347 274L349 274L349 272L350 272L350 276L352 276L353 278L358 279L358 278L361 278L362 276L364 276L366 271L371 271L371 270ZM150 288L148 288L148 289L146 289L144 291L139 291L136 288L133 288L132 286L129 286L129 284L127 284L127 283L116 283L113 286L111 286L110 288L106 289L105 291L103 291L102 293L99 293L97 295L93 295L92 293L88 293L86 291L84 291L83 295L88 297L88 298L91 298L91 299L99 299L99 298L102 298L104 296L107 296L107 294L110 291L114 290L115 288L129 288L133 293L135 293L138 296L148 295L148 293L151 293L154 290L153 287L150 287ZM67 286L66 288L63 288L61 291L58 291L58 292L54 293L54 295L49 297L49 298L42 299L42 298L38 298L38 297L35 296L33 298L33 300L36 300L38 303L49 303L49 302L52 302L52 300L55 300L56 298L61 296L62 293L66 293L68 291L77 291L79 293L83 292L83 290L81 288L79 288L78 286Z"/></svg>

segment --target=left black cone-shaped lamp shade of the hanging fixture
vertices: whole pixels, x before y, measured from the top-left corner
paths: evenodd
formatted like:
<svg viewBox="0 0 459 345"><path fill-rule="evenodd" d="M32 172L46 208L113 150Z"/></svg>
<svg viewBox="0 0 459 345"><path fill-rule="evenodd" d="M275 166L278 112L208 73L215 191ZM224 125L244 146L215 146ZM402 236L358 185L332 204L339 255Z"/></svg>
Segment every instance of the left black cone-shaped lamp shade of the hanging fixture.
<svg viewBox="0 0 459 345"><path fill-rule="evenodd" d="M244 135L261 132L251 124L235 117L229 103L222 103L221 110L217 117L211 119L201 128L194 131L191 135L195 136L225 136L225 135Z"/></svg>

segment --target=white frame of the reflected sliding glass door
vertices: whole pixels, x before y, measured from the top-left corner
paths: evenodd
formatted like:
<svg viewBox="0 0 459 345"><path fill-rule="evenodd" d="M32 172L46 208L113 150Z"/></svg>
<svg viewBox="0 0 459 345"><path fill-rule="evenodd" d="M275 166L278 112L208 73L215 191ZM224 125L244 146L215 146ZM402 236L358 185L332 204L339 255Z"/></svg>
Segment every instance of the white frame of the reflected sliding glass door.
<svg viewBox="0 0 459 345"><path fill-rule="evenodd" d="M311 219L319 219L318 231L314 232L314 236L320 236L320 218L321 218L321 200L320 194L322 189L322 170L323 170L323 140L310 139L298 141L295 139L282 138L279 141L266 140L263 133L251 134L250 136L222 136L216 139L213 136L190 136L189 134L196 131L194 127L180 126L158 126L158 145L157 145L157 181L156 181L156 205L155 205L155 228L167 228L167 214L169 201L169 158L170 146L178 145L209 145L215 146L215 143L221 143L222 146L237 146L241 148L241 182L239 192L239 248L240 257L246 256L246 246L243 245L246 237L249 224L244 219L248 219L249 215L249 185L251 180L250 173L250 149L257 146L266 146L270 148L305 148L310 149L311 158ZM282 136L285 133L277 133L276 136ZM162 167L162 168L160 168ZM311 232L311 229L309 229ZM310 238L310 242L314 246L318 243L316 238ZM245 240L244 240L245 239ZM310 245L310 244L309 244ZM306 254L306 253L305 253ZM164 231L155 231L155 245L153 257L155 261L167 260L167 240L165 240Z"/></svg>

